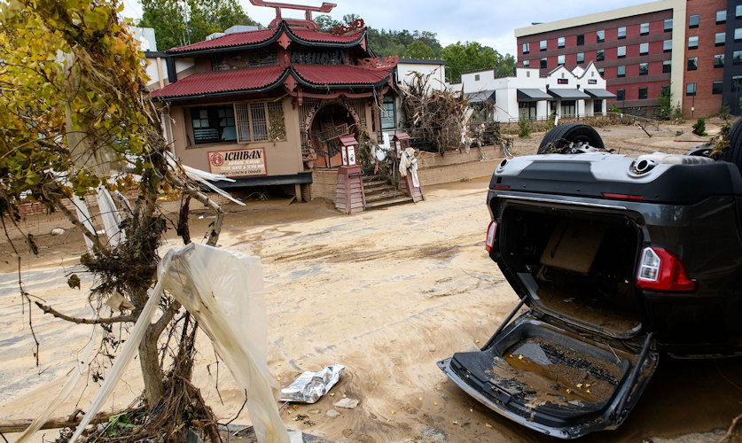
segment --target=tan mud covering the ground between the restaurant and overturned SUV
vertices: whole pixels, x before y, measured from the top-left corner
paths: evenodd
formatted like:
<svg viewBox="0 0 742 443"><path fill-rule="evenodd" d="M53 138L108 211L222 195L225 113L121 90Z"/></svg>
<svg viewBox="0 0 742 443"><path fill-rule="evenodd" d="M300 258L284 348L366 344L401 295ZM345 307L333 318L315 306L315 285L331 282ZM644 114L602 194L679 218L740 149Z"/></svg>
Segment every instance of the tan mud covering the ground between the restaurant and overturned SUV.
<svg viewBox="0 0 742 443"><path fill-rule="evenodd" d="M629 154L683 152L703 141L684 135L691 142L676 142L676 131L687 132L687 125L648 130L652 138L636 127L599 132L606 147ZM516 139L516 152L535 152L540 139ZM322 200L288 206L286 198L274 198L229 206L220 245L262 258L268 361L277 385L290 384L302 370L347 366L333 396L284 408L287 426L345 441L546 440L480 406L435 366L484 343L517 303L484 251L486 188L486 179L438 185L426 189L424 202L353 216L338 214ZM208 217L193 211L193 237L206 230ZM24 221L41 246L39 257L23 256L26 289L68 314L88 315L84 290L90 278L83 276L83 291L77 291L64 277L75 270L82 236L68 229L51 237L56 226L68 228L54 217ZM59 377L90 331L32 311L41 342L35 367L27 307L20 303L9 251L7 242L0 245L0 419L35 416L59 389ZM241 393L226 367L217 365L205 336L199 338L194 382L226 421L238 412ZM107 408L126 407L137 397L137 367L131 366ZM97 387L90 382L55 416L77 405L87 408ZM360 400L358 407L326 416L344 395ZM740 413L742 361L664 358L625 424L585 441L714 441ZM294 421L298 414L314 424ZM243 412L234 423L249 423L249 415ZM57 435L41 431L38 440Z"/></svg>

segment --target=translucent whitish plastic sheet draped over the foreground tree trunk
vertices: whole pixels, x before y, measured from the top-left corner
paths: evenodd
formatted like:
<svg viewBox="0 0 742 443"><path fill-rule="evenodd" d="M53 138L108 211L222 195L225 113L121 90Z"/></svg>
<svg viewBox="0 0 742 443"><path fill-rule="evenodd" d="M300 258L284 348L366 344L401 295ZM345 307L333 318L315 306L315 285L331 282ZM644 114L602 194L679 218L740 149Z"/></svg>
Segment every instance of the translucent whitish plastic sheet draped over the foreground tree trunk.
<svg viewBox="0 0 742 443"><path fill-rule="evenodd" d="M131 336L122 346L121 354L70 441L80 437L113 390L137 352L144 330L152 322L162 291L167 290L196 318L240 389L246 392L257 439L288 443L265 361L267 331L260 259L191 243L168 251L160 261L158 277Z"/></svg>

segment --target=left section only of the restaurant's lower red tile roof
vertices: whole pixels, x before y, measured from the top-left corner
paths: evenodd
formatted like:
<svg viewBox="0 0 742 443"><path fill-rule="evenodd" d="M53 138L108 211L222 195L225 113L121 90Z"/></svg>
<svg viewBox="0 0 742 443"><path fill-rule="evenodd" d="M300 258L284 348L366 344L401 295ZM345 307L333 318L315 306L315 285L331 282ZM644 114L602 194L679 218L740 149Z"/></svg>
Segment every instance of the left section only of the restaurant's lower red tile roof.
<svg viewBox="0 0 742 443"><path fill-rule="evenodd" d="M217 92L261 89L277 82L284 69L281 66L254 67L249 69L230 69L191 74L165 88L152 92L152 97L187 97Z"/></svg>

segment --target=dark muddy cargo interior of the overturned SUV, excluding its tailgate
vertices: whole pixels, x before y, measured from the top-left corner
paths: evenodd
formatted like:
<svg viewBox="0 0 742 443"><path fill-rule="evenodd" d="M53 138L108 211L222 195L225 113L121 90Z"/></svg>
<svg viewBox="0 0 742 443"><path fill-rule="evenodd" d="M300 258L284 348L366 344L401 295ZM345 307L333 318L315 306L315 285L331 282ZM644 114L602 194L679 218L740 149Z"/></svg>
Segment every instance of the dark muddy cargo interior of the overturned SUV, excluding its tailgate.
<svg viewBox="0 0 742 443"><path fill-rule="evenodd" d="M632 221L512 206L500 229L503 260L530 290L533 307L615 338L641 330L634 287L641 242Z"/></svg>

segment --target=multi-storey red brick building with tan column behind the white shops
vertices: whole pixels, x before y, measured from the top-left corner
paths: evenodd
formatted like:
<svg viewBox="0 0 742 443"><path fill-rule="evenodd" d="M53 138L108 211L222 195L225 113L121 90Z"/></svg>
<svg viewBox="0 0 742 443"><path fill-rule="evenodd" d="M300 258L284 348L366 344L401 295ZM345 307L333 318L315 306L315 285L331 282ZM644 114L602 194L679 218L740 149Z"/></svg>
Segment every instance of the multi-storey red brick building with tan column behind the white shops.
<svg viewBox="0 0 742 443"><path fill-rule="evenodd" d="M740 111L740 0L662 0L535 24L515 36L519 66L542 74L594 61L622 109L651 113L669 88L688 117L718 113L722 103Z"/></svg>

